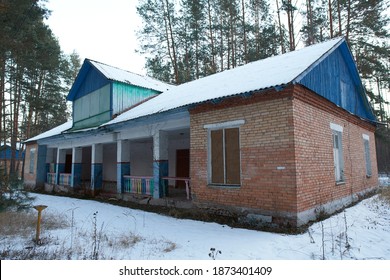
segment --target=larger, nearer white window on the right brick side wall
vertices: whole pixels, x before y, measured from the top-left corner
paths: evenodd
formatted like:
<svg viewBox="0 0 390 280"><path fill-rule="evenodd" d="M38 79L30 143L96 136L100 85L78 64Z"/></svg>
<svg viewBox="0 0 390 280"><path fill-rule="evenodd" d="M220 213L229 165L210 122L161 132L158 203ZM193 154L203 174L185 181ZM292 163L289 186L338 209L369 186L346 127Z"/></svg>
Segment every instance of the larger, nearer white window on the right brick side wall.
<svg viewBox="0 0 390 280"><path fill-rule="evenodd" d="M337 124L330 125L333 138L334 174L337 183L344 182L344 159L343 159L343 127Z"/></svg>

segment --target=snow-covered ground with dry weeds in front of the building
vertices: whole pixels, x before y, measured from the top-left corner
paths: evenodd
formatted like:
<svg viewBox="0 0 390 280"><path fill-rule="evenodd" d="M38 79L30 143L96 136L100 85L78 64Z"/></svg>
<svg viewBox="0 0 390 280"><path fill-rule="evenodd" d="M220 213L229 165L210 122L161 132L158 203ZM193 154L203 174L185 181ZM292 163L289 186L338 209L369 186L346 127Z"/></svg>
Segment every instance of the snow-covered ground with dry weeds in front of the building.
<svg viewBox="0 0 390 280"><path fill-rule="evenodd" d="M299 235L231 228L156 213L34 194L42 219L60 217L62 229L42 228L36 250L59 259L210 260L390 260L390 205L378 195L310 226ZM31 248L31 238L1 238L4 248Z"/></svg>

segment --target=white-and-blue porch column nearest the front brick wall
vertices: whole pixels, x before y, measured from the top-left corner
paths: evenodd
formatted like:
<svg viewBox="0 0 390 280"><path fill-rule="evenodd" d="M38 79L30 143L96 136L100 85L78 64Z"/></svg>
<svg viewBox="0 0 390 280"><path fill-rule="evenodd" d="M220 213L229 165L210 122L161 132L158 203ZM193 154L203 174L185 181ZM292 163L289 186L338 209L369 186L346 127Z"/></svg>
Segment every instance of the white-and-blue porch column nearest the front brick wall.
<svg viewBox="0 0 390 280"><path fill-rule="evenodd" d="M168 133L158 131L153 136L154 198L161 198L167 195L164 181L161 180L161 177L164 176L168 176Z"/></svg>

